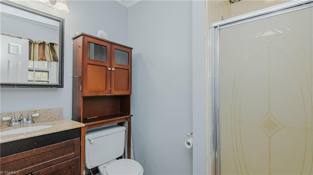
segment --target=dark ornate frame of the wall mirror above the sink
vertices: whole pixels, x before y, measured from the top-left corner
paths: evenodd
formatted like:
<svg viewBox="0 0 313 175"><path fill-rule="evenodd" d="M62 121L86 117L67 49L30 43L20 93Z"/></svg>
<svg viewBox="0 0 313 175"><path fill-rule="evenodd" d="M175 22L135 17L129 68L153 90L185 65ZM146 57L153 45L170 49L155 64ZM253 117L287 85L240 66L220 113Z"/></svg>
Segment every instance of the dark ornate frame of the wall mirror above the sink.
<svg viewBox="0 0 313 175"><path fill-rule="evenodd" d="M63 88L63 69L64 69L64 19L59 17L52 16L50 14L46 14L44 12L40 12L38 10L23 6L21 4L17 4L7 0L0 0L1 5L7 5L31 14L38 15L40 17L44 17L46 19L55 20L59 23L59 73L58 73L58 82L57 83L18 83L18 82L1 82L0 87L31 87L31 88Z"/></svg>

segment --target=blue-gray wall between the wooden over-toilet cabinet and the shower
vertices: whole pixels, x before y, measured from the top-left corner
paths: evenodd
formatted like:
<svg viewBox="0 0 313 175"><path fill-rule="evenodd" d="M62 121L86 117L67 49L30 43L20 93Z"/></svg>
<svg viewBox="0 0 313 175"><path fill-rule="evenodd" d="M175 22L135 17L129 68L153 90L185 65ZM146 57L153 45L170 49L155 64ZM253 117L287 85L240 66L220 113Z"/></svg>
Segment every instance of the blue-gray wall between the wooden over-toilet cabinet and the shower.
<svg viewBox="0 0 313 175"><path fill-rule="evenodd" d="M128 27L134 158L145 175L191 175L192 1L140 1Z"/></svg>

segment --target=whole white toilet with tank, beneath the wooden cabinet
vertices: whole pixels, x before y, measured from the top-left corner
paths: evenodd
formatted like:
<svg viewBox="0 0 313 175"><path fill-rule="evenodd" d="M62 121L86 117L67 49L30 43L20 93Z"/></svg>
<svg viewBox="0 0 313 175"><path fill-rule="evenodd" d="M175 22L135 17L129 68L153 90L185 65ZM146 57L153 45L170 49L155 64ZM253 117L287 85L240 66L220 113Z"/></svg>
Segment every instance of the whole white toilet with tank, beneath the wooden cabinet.
<svg viewBox="0 0 313 175"><path fill-rule="evenodd" d="M98 167L100 175L143 175L143 168L137 161L116 159L124 154L125 127L87 131L85 141L86 168Z"/></svg>

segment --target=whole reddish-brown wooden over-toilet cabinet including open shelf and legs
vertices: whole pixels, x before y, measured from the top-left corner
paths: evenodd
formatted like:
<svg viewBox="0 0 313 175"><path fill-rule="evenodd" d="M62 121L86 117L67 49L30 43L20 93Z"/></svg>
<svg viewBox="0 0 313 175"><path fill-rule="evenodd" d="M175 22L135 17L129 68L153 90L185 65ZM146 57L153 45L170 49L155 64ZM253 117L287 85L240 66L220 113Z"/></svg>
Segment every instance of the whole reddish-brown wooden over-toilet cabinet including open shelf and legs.
<svg viewBox="0 0 313 175"><path fill-rule="evenodd" d="M130 158L133 48L85 33L72 39L72 119L85 124L81 134L82 175L88 129L127 121Z"/></svg>

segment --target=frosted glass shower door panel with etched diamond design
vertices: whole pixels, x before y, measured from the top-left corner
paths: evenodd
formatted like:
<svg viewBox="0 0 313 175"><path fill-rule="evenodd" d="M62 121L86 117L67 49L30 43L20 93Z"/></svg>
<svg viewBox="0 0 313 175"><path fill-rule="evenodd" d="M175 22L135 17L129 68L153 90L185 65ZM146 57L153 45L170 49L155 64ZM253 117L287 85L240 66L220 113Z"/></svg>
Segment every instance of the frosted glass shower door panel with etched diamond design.
<svg viewBox="0 0 313 175"><path fill-rule="evenodd" d="M313 8L219 30L222 175L312 175Z"/></svg>

